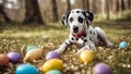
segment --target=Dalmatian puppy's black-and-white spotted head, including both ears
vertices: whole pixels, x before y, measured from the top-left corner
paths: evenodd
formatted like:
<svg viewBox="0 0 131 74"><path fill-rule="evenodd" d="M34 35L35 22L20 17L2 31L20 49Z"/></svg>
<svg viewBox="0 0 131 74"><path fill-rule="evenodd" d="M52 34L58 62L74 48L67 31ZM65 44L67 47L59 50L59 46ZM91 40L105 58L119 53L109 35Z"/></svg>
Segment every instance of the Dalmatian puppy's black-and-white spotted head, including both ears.
<svg viewBox="0 0 131 74"><path fill-rule="evenodd" d="M84 27L88 27L93 21L94 15L91 12L74 9L68 11L62 15L61 22L64 26L70 25L70 30L73 33L81 33Z"/></svg>

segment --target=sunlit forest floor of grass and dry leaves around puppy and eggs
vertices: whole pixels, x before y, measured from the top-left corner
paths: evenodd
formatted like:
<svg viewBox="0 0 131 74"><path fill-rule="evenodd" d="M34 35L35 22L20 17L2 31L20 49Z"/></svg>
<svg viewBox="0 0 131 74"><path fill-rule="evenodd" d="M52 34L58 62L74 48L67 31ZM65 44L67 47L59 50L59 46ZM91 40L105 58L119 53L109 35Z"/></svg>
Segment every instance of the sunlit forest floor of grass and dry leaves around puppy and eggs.
<svg viewBox="0 0 131 74"><path fill-rule="evenodd" d="M92 26L102 27L115 46L112 48L97 47L95 59L88 64L80 62L79 57L75 55L78 50L75 46L70 47L61 54L64 63L63 74L93 74L93 67L98 62L108 64L111 74L131 74L131 48L118 49L121 40L131 41L131 21L95 22ZM69 26L64 28L61 23L49 23L46 26L2 23L0 24L0 53L17 51L24 58L27 46L41 47L45 50L41 59L38 59L38 62L29 62L39 67L45 62L46 53L59 48L68 35ZM23 61L0 66L0 74L14 74L15 67L22 63ZM39 71L39 74L43 72Z"/></svg>

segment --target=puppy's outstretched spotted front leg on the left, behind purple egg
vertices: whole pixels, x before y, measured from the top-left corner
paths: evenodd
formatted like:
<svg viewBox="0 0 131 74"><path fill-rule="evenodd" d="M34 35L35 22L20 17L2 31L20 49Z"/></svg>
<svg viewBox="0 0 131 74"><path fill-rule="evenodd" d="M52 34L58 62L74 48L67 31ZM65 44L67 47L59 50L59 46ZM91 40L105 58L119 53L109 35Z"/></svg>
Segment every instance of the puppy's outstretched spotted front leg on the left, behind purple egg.
<svg viewBox="0 0 131 74"><path fill-rule="evenodd" d="M72 41L70 39L67 39L62 45L60 45L60 47L58 49L56 49L55 51L57 51L58 53L62 53L69 46L72 45Z"/></svg>

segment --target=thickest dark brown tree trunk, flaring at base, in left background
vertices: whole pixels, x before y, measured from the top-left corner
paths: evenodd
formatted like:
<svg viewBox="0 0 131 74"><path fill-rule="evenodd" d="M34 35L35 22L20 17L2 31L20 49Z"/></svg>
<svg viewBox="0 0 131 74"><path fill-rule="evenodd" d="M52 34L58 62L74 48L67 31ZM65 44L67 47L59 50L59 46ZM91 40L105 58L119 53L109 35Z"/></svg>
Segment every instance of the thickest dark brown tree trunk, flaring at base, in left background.
<svg viewBox="0 0 131 74"><path fill-rule="evenodd" d="M45 24L45 22L41 18L37 0L25 0L25 18L23 23L24 24L29 24L29 23Z"/></svg>

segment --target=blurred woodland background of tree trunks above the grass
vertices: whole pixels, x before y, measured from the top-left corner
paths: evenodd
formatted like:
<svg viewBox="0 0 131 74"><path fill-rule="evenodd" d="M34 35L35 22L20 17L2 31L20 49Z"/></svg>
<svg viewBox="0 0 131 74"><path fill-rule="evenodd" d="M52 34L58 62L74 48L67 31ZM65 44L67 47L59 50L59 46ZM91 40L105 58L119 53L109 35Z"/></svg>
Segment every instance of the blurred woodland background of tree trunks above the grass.
<svg viewBox="0 0 131 74"><path fill-rule="evenodd" d="M0 0L0 22L59 22L72 9L93 12L95 21L131 18L131 0Z"/></svg>

